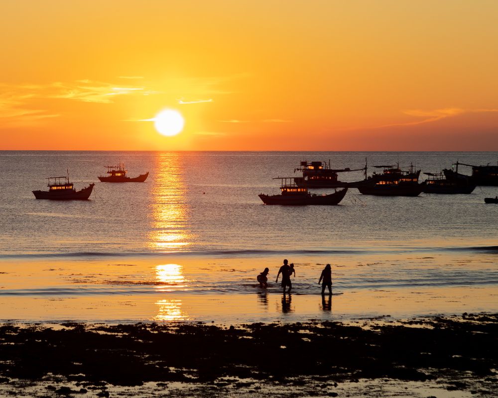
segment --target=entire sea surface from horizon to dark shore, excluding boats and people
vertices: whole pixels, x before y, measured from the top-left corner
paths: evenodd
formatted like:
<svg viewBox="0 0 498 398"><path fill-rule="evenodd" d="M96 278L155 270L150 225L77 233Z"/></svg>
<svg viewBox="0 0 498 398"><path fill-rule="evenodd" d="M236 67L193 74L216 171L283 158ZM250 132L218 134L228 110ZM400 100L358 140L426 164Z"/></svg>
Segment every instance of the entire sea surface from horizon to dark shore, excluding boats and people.
<svg viewBox="0 0 498 398"><path fill-rule="evenodd" d="M292 321L496 308L498 206L484 198L498 187L416 198L350 189L337 206L267 206L257 196L278 193L272 178L298 176L301 160L358 169L366 159L423 173L494 163L498 153L0 152L0 319ZM99 182L119 161L128 176L149 178ZM46 177L67 172L77 190L96 183L90 200L34 198ZM290 297L274 283L283 258L296 264ZM326 263L338 295L322 301ZM255 283L265 267L266 291Z"/></svg>

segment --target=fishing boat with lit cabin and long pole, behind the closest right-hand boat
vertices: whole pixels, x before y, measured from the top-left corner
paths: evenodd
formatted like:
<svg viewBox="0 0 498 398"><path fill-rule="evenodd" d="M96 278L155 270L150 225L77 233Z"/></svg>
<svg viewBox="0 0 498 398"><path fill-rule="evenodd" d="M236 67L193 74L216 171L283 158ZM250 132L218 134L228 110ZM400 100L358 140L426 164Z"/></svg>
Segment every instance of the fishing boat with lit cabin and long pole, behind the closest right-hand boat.
<svg viewBox="0 0 498 398"><path fill-rule="evenodd" d="M329 162L308 162L306 160L302 161L298 168L294 169L296 171L302 171L302 177L295 177L294 183L298 187L307 188L343 188L347 187L348 183L344 183L338 180L337 173L344 173L350 171L360 171L363 169L351 170L350 168L345 169L331 169L330 160Z"/></svg>

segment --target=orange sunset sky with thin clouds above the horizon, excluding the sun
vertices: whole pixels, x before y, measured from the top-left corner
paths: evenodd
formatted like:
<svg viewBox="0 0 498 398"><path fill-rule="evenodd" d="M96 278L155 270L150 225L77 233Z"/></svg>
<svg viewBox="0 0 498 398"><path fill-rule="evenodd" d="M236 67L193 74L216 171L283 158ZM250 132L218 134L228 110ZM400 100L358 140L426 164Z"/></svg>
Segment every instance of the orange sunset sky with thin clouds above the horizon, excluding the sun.
<svg viewBox="0 0 498 398"><path fill-rule="evenodd" d="M497 1L18 0L0 149L498 150ZM174 137L151 119L173 108Z"/></svg>

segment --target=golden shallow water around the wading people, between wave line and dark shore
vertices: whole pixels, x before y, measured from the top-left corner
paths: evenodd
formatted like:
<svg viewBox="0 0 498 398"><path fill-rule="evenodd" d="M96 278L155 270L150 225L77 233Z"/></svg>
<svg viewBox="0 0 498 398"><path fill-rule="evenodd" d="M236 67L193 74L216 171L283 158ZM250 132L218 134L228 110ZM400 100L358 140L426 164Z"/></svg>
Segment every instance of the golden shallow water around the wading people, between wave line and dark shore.
<svg viewBox="0 0 498 398"><path fill-rule="evenodd" d="M194 255L1 261L0 322L345 321L495 312L495 254L396 253L292 258L293 294L275 283L282 256ZM318 278L332 263L333 300ZM256 275L270 268L268 289ZM241 310L243 309L243 310Z"/></svg>

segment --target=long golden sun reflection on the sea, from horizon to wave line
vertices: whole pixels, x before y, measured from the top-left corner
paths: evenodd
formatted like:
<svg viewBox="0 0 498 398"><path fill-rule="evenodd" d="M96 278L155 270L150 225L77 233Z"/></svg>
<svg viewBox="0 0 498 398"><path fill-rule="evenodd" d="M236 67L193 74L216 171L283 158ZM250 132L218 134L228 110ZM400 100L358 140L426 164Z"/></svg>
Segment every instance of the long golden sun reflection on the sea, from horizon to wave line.
<svg viewBox="0 0 498 398"><path fill-rule="evenodd" d="M175 251L190 245L187 190L182 159L176 154L158 156L152 182L152 230L149 247Z"/></svg>

